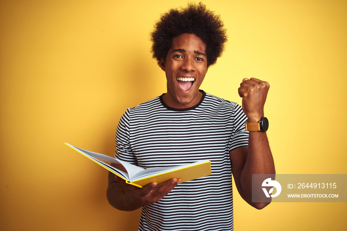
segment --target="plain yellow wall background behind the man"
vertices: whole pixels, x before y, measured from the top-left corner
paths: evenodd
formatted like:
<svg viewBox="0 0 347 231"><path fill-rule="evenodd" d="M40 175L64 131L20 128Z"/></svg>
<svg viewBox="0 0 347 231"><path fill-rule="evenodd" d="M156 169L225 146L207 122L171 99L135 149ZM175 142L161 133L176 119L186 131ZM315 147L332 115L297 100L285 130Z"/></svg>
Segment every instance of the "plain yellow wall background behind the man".
<svg viewBox="0 0 347 231"><path fill-rule="evenodd" d="M277 173L347 173L346 0L203 2L229 42L201 89L240 103L242 78L268 81ZM136 230L139 210L107 202L107 171L63 142L113 155L126 108L166 92L149 32L185 4L0 1L0 230ZM236 231L346 228L346 203L258 211L234 194Z"/></svg>

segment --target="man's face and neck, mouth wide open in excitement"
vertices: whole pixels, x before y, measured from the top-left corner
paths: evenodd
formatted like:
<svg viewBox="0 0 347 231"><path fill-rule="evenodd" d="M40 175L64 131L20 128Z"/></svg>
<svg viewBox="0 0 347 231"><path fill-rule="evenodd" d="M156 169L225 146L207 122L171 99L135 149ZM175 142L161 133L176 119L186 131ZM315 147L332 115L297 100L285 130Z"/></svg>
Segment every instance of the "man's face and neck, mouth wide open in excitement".
<svg viewBox="0 0 347 231"><path fill-rule="evenodd" d="M196 35L173 38L166 60L160 62L166 73L168 92L164 102L172 108L190 108L199 103L199 87L207 72L206 44Z"/></svg>

